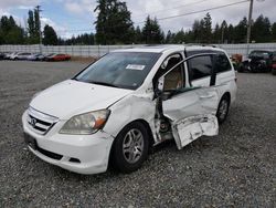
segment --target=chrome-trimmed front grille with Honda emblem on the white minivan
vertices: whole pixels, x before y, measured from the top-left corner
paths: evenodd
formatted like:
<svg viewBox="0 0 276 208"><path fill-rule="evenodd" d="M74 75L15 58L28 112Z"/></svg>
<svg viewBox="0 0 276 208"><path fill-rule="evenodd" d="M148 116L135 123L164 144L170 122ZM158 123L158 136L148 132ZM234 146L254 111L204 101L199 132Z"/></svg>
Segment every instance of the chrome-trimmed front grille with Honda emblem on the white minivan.
<svg viewBox="0 0 276 208"><path fill-rule="evenodd" d="M28 124L30 128L41 135L45 135L59 121L57 117L44 114L32 107L28 110Z"/></svg>

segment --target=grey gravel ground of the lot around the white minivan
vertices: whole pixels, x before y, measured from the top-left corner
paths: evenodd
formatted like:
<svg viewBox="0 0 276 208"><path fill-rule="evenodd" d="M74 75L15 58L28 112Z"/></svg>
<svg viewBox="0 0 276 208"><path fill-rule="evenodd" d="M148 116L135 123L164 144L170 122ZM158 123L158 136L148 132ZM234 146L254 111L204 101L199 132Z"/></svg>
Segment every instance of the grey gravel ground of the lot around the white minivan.
<svg viewBox="0 0 276 208"><path fill-rule="evenodd" d="M276 76L238 74L219 136L163 144L129 175L82 176L32 155L21 115L35 92L84 66L0 62L0 207L276 207Z"/></svg>

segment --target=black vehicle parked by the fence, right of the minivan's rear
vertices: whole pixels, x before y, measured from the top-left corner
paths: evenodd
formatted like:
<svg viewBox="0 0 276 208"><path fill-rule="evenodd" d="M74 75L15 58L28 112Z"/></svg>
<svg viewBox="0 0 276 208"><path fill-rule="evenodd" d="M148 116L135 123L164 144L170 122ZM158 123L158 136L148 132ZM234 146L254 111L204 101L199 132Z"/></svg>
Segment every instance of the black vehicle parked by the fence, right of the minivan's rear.
<svg viewBox="0 0 276 208"><path fill-rule="evenodd" d="M272 69L270 51L252 51L248 59L243 61L237 69L238 72L269 72Z"/></svg>

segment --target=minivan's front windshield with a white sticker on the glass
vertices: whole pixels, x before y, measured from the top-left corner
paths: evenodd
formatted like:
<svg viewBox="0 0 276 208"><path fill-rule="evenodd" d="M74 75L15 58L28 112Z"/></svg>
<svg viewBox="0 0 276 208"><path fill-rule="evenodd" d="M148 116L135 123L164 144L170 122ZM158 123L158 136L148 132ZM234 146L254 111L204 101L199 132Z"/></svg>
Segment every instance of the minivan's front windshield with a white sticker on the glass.
<svg viewBox="0 0 276 208"><path fill-rule="evenodd" d="M138 89L160 53L113 52L99 59L74 80L94 84Z"/></svg>

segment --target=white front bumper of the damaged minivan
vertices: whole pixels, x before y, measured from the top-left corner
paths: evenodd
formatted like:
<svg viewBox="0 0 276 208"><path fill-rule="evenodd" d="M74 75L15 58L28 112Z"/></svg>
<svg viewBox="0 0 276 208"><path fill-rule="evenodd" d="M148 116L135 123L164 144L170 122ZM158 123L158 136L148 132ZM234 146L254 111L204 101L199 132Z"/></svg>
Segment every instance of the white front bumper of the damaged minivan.
<svg viewBox="0 0 276 208"><path fill-rule="evenodd" d="M59 134L65 123L60 121L46 135L39 135L30 128L26 112L22 116L22 123L24 134L36 143L36 147L28 145L29 149L44 162L78 174L106 171L114 141L109 134L103 131L93 135Z"/></svg>

